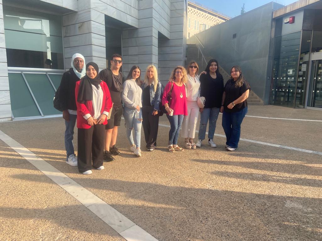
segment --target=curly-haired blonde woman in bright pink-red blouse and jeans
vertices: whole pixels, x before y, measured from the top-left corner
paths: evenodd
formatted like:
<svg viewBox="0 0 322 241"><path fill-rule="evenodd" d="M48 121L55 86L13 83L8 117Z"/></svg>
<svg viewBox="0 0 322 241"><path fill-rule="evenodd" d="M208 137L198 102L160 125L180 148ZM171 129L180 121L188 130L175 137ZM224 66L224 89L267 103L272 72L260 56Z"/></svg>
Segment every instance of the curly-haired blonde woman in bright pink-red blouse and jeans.
<svg viewBox="0 0 322 241"><path fill-rule="evenodd" d="M182 66L177 66L172 71L170 79L164 88L162 104L168 112L166 117L170 122L169 131L169 152L183 151L183 148L177 145L179 130L185 115L187 115L187 94L185 83L187 83L187 71ZM171 96L170 94L171 93Z"/></svg>

